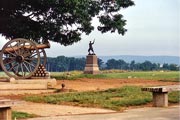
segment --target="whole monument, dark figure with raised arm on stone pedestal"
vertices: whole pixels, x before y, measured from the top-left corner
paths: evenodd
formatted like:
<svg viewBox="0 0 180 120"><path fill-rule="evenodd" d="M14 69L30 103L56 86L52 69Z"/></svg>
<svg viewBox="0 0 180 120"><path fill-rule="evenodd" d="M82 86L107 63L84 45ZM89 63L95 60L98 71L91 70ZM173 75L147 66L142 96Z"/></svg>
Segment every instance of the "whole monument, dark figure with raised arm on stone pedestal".
<svg viewBox="0 0 180 120"><path fill-rule="evenodd" d="M98 58L96 54L94 53L92 45L94 44L95 40L93 42L89 42L89 54L86 56L86 66L84 69L84 74L99 74L99 67L98 67ZM91 53L92 51L92 53Z"/></svg>

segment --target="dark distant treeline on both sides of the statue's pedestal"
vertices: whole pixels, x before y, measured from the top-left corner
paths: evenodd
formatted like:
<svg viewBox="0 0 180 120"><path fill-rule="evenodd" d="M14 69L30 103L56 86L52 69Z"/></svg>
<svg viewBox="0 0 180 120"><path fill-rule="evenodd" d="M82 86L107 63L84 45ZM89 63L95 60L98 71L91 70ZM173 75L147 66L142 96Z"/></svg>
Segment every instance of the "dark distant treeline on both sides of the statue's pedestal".
<svg viewBox="0 0 180 120"><path fill-rule="evenodd" d="M62 72L72 70L84 70L86 63L85 58L74 58L58 56L56 58L47 58L46 69L48 71ZM143 63L136 63L134 60L130 63L126 63L124 60L109 59L106 63L102 59L98 58L98 65L101 70L107 69L120 69L120 70L141 70L141 71L152 71L152 70L171 70L178 71L179 66L176 64L159 64L145 61Z"/></svg>

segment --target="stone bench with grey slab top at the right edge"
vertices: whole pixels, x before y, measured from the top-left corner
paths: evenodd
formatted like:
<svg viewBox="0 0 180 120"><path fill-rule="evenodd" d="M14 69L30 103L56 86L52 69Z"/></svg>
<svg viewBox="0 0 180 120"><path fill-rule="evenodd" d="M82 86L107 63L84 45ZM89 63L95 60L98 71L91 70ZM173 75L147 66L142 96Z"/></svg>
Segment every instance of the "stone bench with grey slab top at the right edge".
<svg viewBox="0 0 180 120"><path fill-rule="evenodd" d="M152 92L154 107L168 107L168 92L179 91L180 85L144 87L141 90Z"/></svg>

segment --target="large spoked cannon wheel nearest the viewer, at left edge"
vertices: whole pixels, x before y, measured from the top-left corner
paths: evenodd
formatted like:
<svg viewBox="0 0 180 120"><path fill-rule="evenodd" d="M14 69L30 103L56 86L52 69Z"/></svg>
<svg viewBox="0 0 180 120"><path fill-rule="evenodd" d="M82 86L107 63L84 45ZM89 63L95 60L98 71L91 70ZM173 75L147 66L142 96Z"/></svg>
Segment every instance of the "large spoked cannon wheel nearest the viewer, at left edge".
<svg viewBox="0 0 180 120"><path fill-rule="evenodd" d="M14 78L30 78L40 64L40 53L30 40L17 38L7 42L0 53L2 70Z"/></svg>

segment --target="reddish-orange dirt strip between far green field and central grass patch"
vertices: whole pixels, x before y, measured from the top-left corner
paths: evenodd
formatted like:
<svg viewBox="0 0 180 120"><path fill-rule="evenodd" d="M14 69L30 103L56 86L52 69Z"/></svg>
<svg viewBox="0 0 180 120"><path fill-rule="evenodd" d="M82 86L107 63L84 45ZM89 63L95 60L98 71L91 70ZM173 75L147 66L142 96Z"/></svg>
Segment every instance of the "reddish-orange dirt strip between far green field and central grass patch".
<svg viewBox="0 0 180 120"><path fill-rule="evenodd" d="M66 89L77 91L105 90L109 88L118 88L125 85L137 86L157 86L157 85L175 85L177 82L162 82L157 80L145 79L79 79L79 80L59 80L57 88L65 84Z"/></svg>

